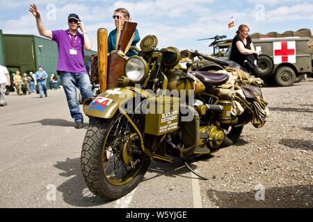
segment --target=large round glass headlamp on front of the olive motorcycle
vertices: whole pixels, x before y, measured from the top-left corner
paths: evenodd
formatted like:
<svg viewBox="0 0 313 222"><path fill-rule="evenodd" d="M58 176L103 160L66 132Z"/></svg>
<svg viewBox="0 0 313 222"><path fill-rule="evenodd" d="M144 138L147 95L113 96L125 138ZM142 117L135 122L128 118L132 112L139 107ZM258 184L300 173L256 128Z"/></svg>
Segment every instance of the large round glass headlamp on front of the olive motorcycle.
<svg viewBox="0 0 313 222"><path fill-rule="evenodd" d="M140 56L131 56L125 65L125 74L133 83L141 83L149 73L149 65Z"/></svg>

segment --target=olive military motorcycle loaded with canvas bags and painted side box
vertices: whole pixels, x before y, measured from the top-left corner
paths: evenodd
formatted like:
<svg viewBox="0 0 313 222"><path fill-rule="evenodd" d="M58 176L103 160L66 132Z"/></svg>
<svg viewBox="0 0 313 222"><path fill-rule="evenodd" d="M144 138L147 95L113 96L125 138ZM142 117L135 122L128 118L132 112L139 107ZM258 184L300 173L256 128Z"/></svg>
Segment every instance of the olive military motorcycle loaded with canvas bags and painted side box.
<svg viewBox="0 0 313 222"><path fill-rule="evenodd" d="M93 120L83 141L82 173L102 198L115 200L136 188L152 160L179 158L188 166L192 157L234 144L249 122L259 128L266 121L262 80L232 67L198 71L195 58L214 58L157 44L148 35L140 49L132 46L138 55L122 55L118 85L83 103Z"/></svg>

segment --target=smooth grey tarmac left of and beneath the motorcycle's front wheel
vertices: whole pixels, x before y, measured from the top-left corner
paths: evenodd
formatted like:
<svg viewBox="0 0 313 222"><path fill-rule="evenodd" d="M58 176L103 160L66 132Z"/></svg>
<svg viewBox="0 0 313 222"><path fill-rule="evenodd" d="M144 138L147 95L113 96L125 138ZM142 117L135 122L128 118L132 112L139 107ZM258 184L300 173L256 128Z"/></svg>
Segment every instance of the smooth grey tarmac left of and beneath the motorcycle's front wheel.
<svg viewBox="0 0 313 222"><path fill-rule="evenodd" d="M152 162L143 182L120 200L94 196L80 166L88 117L83 129L74 128L63 89L42 99L11 92L7 101L0 107L0 207L202 206L199 179L179 161Z"/></svg>

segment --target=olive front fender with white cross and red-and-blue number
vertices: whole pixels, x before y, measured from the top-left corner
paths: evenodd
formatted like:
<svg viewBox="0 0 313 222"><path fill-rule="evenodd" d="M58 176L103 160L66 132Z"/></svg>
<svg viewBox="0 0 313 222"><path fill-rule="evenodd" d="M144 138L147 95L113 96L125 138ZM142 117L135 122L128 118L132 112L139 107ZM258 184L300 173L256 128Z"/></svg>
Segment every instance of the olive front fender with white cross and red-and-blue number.
<svg viewBox="0 0 313 222"><path fill-rule="evenodd" d="M83 112L88 117L97 117L102 119L111 119L114 114L120 110L125 112L124 105L127 101L136 98L149 98L152 96L149 92L136 87L121 87L106 90L93 99L86 99L83 102Z"/></svg>

